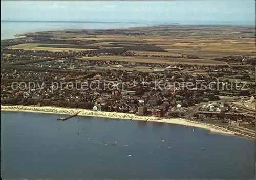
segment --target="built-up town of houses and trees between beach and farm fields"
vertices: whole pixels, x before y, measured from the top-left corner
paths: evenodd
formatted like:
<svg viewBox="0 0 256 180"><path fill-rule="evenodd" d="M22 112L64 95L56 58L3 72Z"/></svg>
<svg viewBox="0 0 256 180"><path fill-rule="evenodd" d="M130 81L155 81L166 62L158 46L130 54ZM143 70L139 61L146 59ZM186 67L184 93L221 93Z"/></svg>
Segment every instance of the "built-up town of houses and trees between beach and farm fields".
<svg viewBox="0 0 256 180"><path fill-rule="evenodd" d="M254 73L249 69L220 66L78 59L82 56L100 55L88 52L1 49L1 54L3 55L1 63L25 62L23 67L31 68L30 70L14 70L15 68L12 69L12 67L1 69L1 100L43 99L48 100L48 104L49 101L59 101L59 106L67 106L68 102L78 104L89 102L93 104L94 110L136 113L141 116L181 116L186 108L200 102L219 100L219 95L240 95L241 90L230 88L234 82L219 78ZM103 55L112 54L104 53ZM119 55L133 56L133 53L126 52ZM51 60L48 61L48 59ZM42 61L38 62L38 60ZM29 63L26 63L27 61ZM38 69L33 69L35 67ZM41 70L41 67L49 70ZM99 67L112 69L100 70ZM146 67L147 70L133 70L136 67ZM214 89L217 87L217 80L220 85L227 88ZM18 84L27 82L26 85L28 85L28 82L31 81L39 83L39 85L24 87ZM17 83L13 85L13 82ZM83 88L84 82L92 86ZM207 85L211 82L216 83L203 89L200 86L200 83L203 82L206 82ZM61 83L64 85L60 86ZM69 83L69 85L65 83ZM243 84L239 83L238 86L242 87ZM255 84L246 84L243 88L248 94L255 93ZM44 101L40 102L44 104ZM197 113L196 116L206 115L209 117L211 116L209 114L214 116L223 113L228 115L233 112L232 107L226 104L212 102L205 105L200 113ZM230 115L226 118L232 117ZM214 118L218 119L217 116Z"/></svg>

